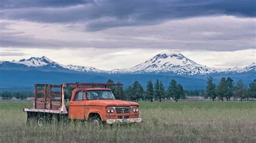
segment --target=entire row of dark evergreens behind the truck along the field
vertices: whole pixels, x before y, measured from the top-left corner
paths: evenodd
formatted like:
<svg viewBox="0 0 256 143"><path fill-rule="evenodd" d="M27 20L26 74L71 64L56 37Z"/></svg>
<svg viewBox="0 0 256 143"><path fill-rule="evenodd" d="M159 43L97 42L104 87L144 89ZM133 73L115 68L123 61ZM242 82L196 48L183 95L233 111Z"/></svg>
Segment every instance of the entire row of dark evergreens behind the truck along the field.
<svg viewBox="0 0 256 143"><path fill-rule="evenodd" d="M114 83L114 81L108 80L107 83ZM110 86L109 88L112 89L117 99L122 98L121 92L123 91L123 87ZM65 99L70 98L71 94L67 93L71 93L72 90L73 88L65 89L65 95L69 95ZM3 91L0 92L0 96L4 100L11 99L12 97L22 100L28 97L34 97L32 91ZM124 90L124 99L130 101L144 100L153 102L154 100L159 100L161 102L162 99L173 99L177 102L179 99L185 99L187 96L204 96L205 98L212 99L212 101L215 101L217 98L221 101L230 101L231 98L237 98L240 101L248 98L256 98L256 79L247 87L242 80L234 83L231 77L222 77L219 83L215 84L213 78L210 76L207 77L205 90L185 90L176 80L171 80L167 89L165 89L163 82L160 80L156 80L154 83L149 80L144 90L143 86L138 81L135 81Z"/></svg>

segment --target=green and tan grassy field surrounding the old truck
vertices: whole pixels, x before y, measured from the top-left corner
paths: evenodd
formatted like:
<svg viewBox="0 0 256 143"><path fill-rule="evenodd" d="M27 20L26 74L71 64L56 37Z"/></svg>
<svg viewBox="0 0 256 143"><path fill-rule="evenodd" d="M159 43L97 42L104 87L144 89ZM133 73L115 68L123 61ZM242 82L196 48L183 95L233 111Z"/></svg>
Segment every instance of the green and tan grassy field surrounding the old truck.
<svg viewBox="0 0 256 143"><path fill-rule="evenodd" d="M144 122L26 125L31 103L0 103L0 142L255 142L256 102L141 102Z"/></svg>

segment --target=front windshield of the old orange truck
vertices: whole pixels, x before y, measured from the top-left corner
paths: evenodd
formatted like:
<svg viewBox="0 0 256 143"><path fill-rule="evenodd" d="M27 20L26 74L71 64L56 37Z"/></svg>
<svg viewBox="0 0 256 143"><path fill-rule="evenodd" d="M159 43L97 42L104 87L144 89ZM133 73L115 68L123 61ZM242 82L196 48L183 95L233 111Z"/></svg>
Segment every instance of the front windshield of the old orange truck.
<svg viewBox="0 0 256 143"><path fill-rule="evenodd" d="M91 90L87 91L87 99L116 99L111 91L108 90Z"/></svg>

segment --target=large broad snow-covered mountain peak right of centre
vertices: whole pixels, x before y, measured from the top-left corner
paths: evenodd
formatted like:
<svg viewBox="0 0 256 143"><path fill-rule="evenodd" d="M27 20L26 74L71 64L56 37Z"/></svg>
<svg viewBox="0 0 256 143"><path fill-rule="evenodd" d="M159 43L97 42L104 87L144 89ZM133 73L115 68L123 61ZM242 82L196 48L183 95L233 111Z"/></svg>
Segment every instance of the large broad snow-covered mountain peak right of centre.
<svg viewBox="0 0 256 143"><path fill-rule="evenodd" d="M137 66L112 70L113 73L174 73L177 75L204 75L218 70L200 65L180 53L158 54Z"/></svg>

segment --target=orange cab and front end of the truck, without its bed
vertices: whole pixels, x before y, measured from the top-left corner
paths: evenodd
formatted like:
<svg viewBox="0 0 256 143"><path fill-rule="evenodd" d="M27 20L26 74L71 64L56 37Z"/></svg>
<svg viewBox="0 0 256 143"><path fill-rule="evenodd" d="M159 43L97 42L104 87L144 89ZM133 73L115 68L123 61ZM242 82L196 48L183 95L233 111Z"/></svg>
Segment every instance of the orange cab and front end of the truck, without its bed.
<svg viewBox="0 0 256 143"><path fill-rule="evenodd" d="M139 104L117 100L109 88L79 88L72 91L68 106L70 119L104 122L140 123Z"/></svg>

